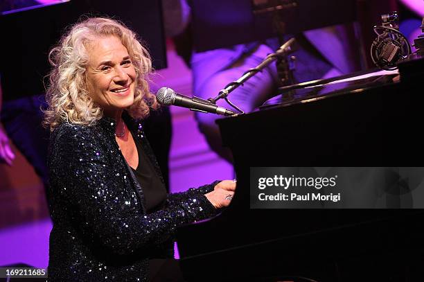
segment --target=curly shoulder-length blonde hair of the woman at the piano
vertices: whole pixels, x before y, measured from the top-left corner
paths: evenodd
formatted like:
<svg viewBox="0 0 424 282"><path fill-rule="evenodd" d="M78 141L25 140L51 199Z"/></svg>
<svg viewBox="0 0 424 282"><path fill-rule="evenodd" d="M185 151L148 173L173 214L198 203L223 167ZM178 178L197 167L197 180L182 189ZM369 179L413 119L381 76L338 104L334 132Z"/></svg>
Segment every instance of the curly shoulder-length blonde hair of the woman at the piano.
<svg viewBox="0 0 424 282"><path fill-rule="evenodd" d="M91 125L103 117L103 110L94 103L87 88L87 47L98 37L109 35L121 39L136 70L134 103L127 112L132 118L141 119L148 116L150 108L158 107L148 85L152 72L150 55L136 34L114 19L89 18L72 26L48 55L52 69L48 75L44 125L51 130L64 122Z"/></svg>

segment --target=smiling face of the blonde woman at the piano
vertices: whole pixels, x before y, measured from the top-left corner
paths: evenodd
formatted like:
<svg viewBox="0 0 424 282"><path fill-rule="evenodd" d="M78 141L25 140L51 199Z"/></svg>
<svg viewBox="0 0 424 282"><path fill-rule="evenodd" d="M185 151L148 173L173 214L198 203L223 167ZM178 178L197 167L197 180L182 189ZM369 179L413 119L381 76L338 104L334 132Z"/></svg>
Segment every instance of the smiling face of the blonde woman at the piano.
<svg viewBox="0 0 424 282"><path fill-rule="evenodd" d="M115 36L98 37L87 46L87 86L107 116L116 117L134 103L136 71L128 51Z"/></svg>

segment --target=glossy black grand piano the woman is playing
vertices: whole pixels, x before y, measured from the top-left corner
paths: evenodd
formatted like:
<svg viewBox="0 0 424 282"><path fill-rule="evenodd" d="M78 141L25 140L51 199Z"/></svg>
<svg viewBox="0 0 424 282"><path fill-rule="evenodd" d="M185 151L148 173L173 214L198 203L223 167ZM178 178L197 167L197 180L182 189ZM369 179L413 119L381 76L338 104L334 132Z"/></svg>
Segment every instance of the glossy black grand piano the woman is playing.
<svg viewBox="0 0 424 282"><path fill-rule="evenodd" d="M249 190L254 167L423 166L423 70L423 59L405 62L398 82L299 89L218 120L237 193L217 217L178 230L185 278L422 281L423 209L251 209Z"/></svg>

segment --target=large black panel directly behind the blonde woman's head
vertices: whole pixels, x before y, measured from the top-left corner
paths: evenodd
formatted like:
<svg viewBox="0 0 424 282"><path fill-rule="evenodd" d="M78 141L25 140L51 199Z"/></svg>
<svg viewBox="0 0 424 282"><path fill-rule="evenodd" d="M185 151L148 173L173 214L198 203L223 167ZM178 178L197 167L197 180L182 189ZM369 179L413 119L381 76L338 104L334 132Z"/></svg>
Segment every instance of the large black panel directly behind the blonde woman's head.
<svg viewBox="0 0 424 282"><path fill-rule="evenodd" d="M150 51L154 69L166 67L161 1L71 0L0 16L0 73L3 99L44 93L48 51L71 24L88 16L108 16L135 30ZM44 79L46 82L46 79Z"/></svg>

